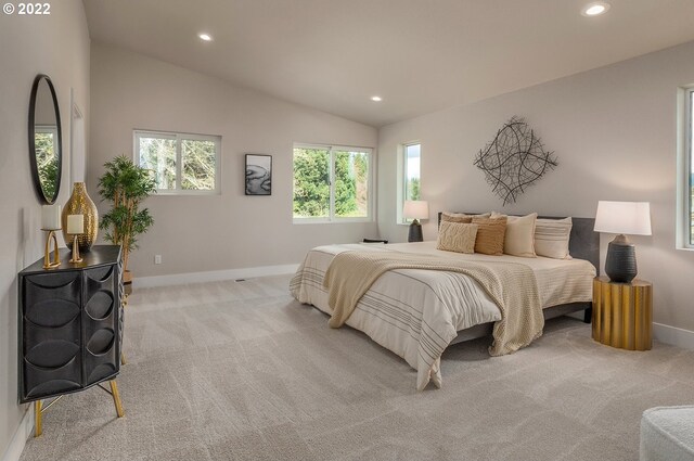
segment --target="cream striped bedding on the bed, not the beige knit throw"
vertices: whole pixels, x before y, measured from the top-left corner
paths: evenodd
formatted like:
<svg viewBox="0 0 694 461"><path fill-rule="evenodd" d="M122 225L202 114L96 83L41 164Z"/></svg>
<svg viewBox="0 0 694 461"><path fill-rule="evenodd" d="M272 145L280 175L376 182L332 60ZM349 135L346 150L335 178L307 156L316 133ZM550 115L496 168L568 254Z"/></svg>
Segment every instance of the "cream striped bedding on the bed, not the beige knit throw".
<svg viewBox="0 0 694 461"><path fill-rule="evenodd" d="M468 255L436 249L436 242L318 246L307 254L292 280L294 297L331 313L323 277L334 255L350 249L520 262L530 267L536 276L542 307L592 300L595 268L586 260ZM497 305L465 274L398 269L384 273L374 282L346 323L367 333L417 370L416 388L423 389L429 381L440 387L440 357L458 331L500 319Z"/></svg>

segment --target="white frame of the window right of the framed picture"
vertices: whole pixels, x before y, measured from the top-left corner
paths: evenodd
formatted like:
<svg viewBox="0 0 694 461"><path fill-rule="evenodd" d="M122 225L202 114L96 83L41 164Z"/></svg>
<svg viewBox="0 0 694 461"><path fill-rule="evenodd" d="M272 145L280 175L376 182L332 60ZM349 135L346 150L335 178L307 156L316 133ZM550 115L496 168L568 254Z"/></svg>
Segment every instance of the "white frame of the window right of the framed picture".
<svg viewBox="0 0 694 461"><path fill-rule="evenodd" d="M363 148L358 145L338 145L338 144L316 144L295 142L292 146L292 183L294 183L294 150L295 149L316 149L329 151L330 161L330 206L326 217L301 218L294 216L294 185L292 185L292 222L295 225L314 225L314 223L345 223L345 222L373 222L376 190L374 188L375 178L375 150L373 148ZM367 179L369 196L367 197L367 216L340 217L335 216L335 152L363 152L369 155L369 177Z"/></svg>

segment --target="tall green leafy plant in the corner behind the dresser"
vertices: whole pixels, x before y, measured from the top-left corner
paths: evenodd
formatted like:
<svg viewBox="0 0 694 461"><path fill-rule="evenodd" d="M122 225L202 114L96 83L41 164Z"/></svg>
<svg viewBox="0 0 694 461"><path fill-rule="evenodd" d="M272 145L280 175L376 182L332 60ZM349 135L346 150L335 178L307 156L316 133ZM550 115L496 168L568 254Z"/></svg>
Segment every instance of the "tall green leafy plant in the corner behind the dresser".
<svg viewBox="0 0 694 461"><path fill-rule="evenodd" d="M154 218L140 204L156 192L152 171L136 165L125 155L104 164L106 171L99 178L99 195L112 208L102 216L99 227L106 231L104 239L123 248L124 280L132 280L128 271L128 255L138 247L137 236L147 231Z"/></svg>

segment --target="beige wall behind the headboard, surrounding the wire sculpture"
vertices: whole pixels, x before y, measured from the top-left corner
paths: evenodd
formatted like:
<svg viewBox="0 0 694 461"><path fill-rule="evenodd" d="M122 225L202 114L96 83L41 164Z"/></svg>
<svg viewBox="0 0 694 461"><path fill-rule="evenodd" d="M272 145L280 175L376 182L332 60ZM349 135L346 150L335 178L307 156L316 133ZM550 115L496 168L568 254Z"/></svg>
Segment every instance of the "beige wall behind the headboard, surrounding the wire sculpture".
<svg viewBox="0 0 694 461"><path fill-rule="evenodd" d="M396 152L411 140L422 142L422 195L432 210L425 239L436 238L439 210L594 217L599 200L647 201L653 236L631 240L639 277L654 283L654 320L694 331L694 253L674 244L677 91L687 84L694 42L384 127L381 235L407 240L407 227L395 223ZM513 115L526 117L560 165L502 208L473 159ZM602 236L603 261L611 239Z"/></svg>

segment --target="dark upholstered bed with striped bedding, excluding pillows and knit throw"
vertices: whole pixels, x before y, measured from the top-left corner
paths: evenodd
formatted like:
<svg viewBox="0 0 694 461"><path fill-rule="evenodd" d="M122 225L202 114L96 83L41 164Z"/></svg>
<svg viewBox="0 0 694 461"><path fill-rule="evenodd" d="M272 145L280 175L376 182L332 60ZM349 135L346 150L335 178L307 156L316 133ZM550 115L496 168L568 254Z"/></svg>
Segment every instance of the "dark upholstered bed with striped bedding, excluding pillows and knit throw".
<svg viewBox="0 0 694 461"><path fill-rule="evenodd" d="M541 304L542 324L544 319L581 310L584 311L584 321L589 322L600 240L593 232L594 219L573 218L573 222L569 239L573 259L461 255L436 249L435 241L324 245L309 251L292 279L290 290L300 303L333 315L330 292L323 282L333 260L346 252L376 258L382 254L387 254L387 257L414 255L413 258L436 258L446 265L499 266L509 262L532 272ZM506 315L502 316L499 298L490 295L488 287L483 285L478 279L464 272L420 268L387 270L359 297L345 324L402 357L417 371L417 390L424 389L429 382L440 387L440 357L446 347L492 332L496 336L496 329L506 317L512 318L510 313L513 310L506 308ZM490 354L492 350L493 344ZM513 350L505 349L501 354Z"/></svg>

